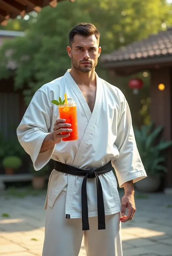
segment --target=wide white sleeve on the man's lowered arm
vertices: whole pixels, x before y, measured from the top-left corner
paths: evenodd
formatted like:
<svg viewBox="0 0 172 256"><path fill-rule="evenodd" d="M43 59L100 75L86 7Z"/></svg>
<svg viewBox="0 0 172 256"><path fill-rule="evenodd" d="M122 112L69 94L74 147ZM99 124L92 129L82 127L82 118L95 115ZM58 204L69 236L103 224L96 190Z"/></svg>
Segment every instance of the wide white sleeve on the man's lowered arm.
<svg viewBox="0 0 172 256"><path fill-rule="evenodd" d="M118 159L112 159L112 165L115 169L120 188L123 187L125 182L133 180L135 183L147 177L136 146L130 109L124 96L121 102L114 147L118 148L119 157Z"/></svg>

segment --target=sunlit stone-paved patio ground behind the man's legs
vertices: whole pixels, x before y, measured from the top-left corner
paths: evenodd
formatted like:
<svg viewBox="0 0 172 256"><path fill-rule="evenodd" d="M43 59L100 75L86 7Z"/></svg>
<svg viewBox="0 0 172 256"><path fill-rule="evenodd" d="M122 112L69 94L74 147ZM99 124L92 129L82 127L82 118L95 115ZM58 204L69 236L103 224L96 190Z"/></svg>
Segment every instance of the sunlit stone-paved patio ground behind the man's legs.
<svg viewBox="0 0 172 256"><path fill-rule="evenodd" d="M45 193L19 196L0 196L0 255L41 256ZM172 195L136 194L136 208L122 224L123 256L172 256ZM82 245L79 256L85 255Z"/></svg>

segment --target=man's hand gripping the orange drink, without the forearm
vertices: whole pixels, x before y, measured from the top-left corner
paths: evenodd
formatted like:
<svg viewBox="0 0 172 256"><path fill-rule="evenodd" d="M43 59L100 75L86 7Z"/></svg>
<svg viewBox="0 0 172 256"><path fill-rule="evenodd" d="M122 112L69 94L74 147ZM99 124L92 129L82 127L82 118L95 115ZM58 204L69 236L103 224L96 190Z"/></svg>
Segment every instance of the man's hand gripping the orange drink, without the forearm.
<svg viewBox="0 0 172 256"><path fill-rule="evenodd" d="M70 133L72 132L72 129L70 129L71 124L65 123L65 119L57 119L56 123L54 123L54 129L53 129L53 140L54 143L60 143L62 138L67 138L70 136ZM67 134L61 134L61 133L67 133Z"/></svg>

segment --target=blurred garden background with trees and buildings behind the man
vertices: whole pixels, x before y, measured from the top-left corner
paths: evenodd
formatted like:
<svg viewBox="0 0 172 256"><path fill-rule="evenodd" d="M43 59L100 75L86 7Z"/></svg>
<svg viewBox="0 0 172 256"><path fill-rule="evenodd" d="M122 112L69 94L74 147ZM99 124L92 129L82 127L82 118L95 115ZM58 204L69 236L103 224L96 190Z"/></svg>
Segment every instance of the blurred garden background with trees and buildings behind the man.
<svg viewBox="0 0 172 256"><path fill-rule="evenodd" d="M0 186L45 188L53 163L35 172L16 137L33 94L70 68L68 34L101 32L98 75L127 98L148 179L142 192L172 190L172 1L0 1Z"/></svg>

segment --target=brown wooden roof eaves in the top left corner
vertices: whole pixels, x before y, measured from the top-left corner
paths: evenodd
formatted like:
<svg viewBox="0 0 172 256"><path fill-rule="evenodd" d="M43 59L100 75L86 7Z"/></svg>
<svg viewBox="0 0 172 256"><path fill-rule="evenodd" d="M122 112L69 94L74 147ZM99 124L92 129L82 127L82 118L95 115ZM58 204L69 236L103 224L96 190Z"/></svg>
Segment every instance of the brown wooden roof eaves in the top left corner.
<svg viewBox="0 0 172 256"><path fill-rule="evenodd" d="M47 5L54 8L61 1L64 0L0 0L0 24L5 26L9 19L15 19L18 15L24 17L32 11L40 12Z"/></svg>

